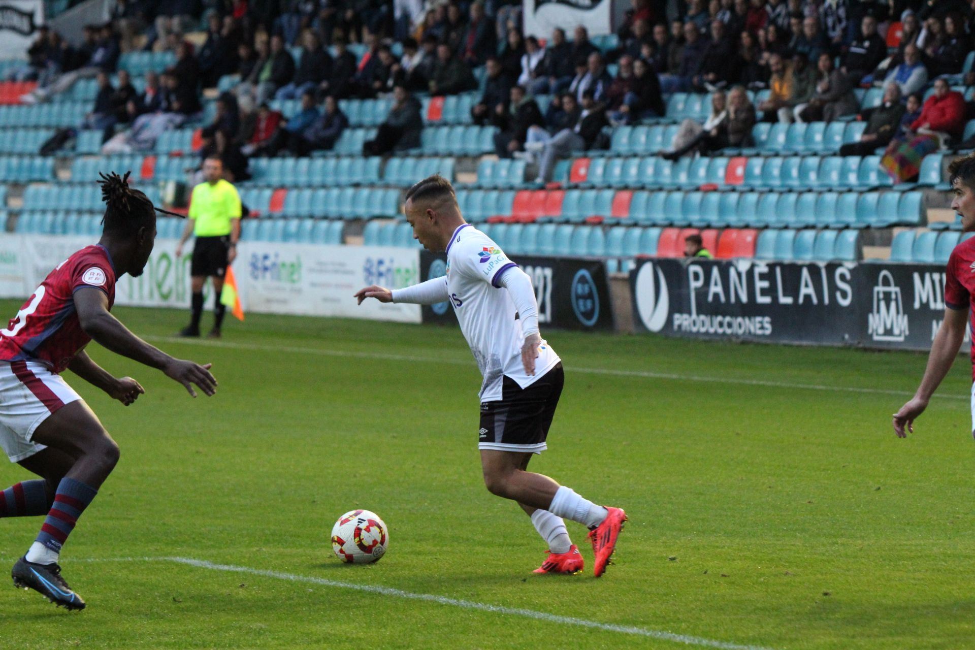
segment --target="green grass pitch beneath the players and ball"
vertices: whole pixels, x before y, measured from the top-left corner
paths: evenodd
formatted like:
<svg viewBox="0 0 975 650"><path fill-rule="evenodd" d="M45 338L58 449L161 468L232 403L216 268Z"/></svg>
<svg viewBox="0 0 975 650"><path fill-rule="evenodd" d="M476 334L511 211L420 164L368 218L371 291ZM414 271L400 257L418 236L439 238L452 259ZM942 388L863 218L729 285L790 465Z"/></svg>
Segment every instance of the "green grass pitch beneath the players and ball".
<svg viewBox="0 0 975 650"><path fill-rule="evenodd" d="M565 393L531 467L630 522L604 578L571 522L586 572L538 577L544 544L481 479L480 376L458 329L254 315L187 343L165 339L184 313L116 314L214 363L219 392L191 400L90 347L146 395L125 408L67 376L122 447L62 555L89 608L0 590L0 648L975 648L965 359L897 440L890 414L923 355L548 332ZM28 477L0 470L3 486ZM331 554L353 508L390 527L377 564ZM0 521L3 567L40 523ZM174 556L652 633L160 559Z"/></svg>

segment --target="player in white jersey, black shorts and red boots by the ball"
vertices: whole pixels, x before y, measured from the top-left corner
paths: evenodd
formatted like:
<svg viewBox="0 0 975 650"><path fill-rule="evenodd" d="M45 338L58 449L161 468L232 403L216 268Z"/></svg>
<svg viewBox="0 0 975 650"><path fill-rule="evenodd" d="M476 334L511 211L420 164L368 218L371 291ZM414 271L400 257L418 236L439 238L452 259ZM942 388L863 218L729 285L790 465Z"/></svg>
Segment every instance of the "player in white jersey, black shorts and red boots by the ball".
<svg viewBox="0 0 975 650"><path fill-rule="evenodd" d="M619 508L598 506L551 478L526 472L546 448L563 387L562 361L538 330L531 280L487 235L466 223L450 182L433 175L409 188L404 207L413 237L428 250L447 251L447 275L396 290L356 293L380 302L435 304L449 300L484 376L478 447L487 489L517 501L548 545L535 573L580 573L578 548L563 517L590 529L600 577L626 521Z"/></svg>

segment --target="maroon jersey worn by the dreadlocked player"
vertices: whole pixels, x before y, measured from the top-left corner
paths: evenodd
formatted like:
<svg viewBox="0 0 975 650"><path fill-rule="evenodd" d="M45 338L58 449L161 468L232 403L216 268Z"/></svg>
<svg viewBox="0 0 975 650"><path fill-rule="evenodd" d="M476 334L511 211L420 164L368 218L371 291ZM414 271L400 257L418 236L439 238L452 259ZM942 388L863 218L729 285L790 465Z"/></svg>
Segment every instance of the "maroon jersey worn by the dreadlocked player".
<svg viewBox="0 0 975 650"><path fill-rule="evenodd" d="M7 325L0 329L0 361L39 362L60 372L92 338L78 322L74 292L98 287L115 303L115 269L101 246L79 250L48 274Z"/></svg>

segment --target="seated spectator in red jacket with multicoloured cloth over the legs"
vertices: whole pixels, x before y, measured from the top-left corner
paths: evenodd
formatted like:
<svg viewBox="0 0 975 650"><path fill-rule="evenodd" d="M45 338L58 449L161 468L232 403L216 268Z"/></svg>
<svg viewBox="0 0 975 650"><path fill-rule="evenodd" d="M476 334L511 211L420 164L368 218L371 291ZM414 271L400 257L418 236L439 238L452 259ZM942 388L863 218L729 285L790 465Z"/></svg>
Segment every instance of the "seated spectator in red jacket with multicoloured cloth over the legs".
<svg viewBox="0 0 975 650"><path fill-rule="evenodd" d="M924 156L959 139L965 126L965 100L948 82L937 79L934 95L927 98L920 116L903 135L890 141L880 168L897 182L917 176Z"/></svg>

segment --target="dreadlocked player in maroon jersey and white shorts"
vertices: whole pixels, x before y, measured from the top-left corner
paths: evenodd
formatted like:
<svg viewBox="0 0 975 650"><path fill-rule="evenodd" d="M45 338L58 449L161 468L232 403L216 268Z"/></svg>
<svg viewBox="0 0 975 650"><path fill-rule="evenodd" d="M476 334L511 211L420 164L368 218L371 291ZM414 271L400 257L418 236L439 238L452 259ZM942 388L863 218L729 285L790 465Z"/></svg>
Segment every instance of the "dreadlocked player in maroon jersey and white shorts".
<svg viewBox="0 0 975 650"><path fill-rule="evenodd" d="M180 361L133 334L109 313L115 283L139 276L156 238L156 209L131 189L129 173L102 174L107 204L101 239L61 262L0 329L0 447L40 479L0 492L0 517L46 515L37 539L14 564L14 585L67 609L85 601L60 575L61 545L119 459L119 447L98 417L61 378L65 369L125 405L145 391L116 379L85 353L92 339L122 356L162 370L196 397L214 395L210 364Z"/></svg>

